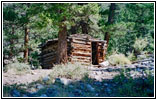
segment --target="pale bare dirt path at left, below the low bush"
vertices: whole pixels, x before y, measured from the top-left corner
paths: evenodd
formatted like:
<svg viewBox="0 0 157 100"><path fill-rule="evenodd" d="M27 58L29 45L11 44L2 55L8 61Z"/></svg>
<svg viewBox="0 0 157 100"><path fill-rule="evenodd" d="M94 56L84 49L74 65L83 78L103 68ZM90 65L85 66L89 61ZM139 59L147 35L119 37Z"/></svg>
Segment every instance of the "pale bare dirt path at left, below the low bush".
<svg viewBox="0 0 157 100"><path fill-rule="evenodd" d="M42 77L50 74L51 70L49 69L37 69L31 70L31 73L24 75L16 75L11 74L9 72L3 73L3 85L11 85L11 84L29 84L34 81L39 80Z"/></svg>

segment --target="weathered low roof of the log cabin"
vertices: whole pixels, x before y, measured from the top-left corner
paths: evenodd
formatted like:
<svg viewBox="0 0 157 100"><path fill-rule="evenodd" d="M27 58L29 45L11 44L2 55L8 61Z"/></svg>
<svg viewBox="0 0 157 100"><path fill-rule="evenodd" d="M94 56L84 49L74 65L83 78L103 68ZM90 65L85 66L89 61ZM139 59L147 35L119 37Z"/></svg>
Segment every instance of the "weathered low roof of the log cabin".
<svg viewBox="0 0 157 100"><path fill-rule="evenodd" d="M101 40L101 39L97 39L97 38L93 38L92 36L88 35L88 34L72 34L70 36L67 37L67 41L69 41L69 39L80 39L80 40L89 40L91 42L102 42L105 43L105 40ZM39 45L39 48L43 48L45 46L48 46L52 43L56 43L58 42L58 38L55 39L49 39L47 40L45 43Z"/></svg>

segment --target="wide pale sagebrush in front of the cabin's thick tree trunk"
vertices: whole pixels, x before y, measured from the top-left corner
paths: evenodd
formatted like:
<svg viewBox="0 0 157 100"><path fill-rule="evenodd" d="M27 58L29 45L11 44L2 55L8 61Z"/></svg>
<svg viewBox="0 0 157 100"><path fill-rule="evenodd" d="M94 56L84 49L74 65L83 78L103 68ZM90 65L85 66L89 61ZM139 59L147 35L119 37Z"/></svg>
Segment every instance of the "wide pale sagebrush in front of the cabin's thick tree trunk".
<svg viewBox="0 0 157 100"><path fill-rule="evenodd" d="M88 69L84 66L81 66L79 63L68 63L56 65L52 68L52 72L50 73L50 77L52 79L57 77L65 77L69 79L82 79L88 74Z"/></svg>

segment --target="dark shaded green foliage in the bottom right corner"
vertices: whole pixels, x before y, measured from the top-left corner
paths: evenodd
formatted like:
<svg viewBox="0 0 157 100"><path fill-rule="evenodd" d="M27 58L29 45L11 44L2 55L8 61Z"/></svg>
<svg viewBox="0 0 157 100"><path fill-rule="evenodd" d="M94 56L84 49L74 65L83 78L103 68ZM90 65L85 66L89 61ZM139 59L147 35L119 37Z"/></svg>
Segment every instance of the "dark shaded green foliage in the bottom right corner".
<svg viewBox="0 0 157 100"><path fill-rule="evenodd" d="M144 78L133 79L130 74L121 73L114 77L119 97L152 97L154 96L154 77L148 74Z"/></svg>

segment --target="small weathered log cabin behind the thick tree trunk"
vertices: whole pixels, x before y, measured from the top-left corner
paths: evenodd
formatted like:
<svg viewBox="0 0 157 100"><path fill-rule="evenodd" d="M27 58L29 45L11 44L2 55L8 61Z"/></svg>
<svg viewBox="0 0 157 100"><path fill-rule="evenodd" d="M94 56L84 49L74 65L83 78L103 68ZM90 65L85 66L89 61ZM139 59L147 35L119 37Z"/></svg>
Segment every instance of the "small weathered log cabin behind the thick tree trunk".
<svg viewBox="0 0 157 100"><path fill-rule="evenodd" d="M48 40L40 45L40 63L49 69L56 63L58 39ZM88 34L73 34L67 37L68 62L80 62L84 65L99 65L105 60L106 41Z"/></svg>

